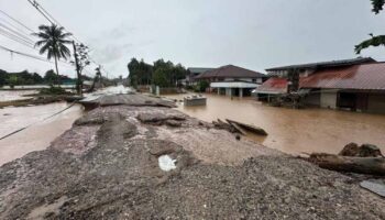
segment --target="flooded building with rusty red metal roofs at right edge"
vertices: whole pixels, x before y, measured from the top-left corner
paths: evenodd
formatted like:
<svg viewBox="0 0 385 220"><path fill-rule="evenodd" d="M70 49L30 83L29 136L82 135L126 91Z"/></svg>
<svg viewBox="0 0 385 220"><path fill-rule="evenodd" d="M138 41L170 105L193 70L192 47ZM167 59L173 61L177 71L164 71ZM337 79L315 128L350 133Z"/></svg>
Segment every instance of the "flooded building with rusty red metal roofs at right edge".
<svg viewBox="0 0 385 220"><path fill-rule="evenodd" d="M385 63L372 58L345 59L318 63L306 67L299 77L299 90L305 95L305 103L330 109L345 109L360 112L385 113ZM270 99L286 94L290 81L286 69L266 69L276 77L256 89L258 97ZM311 70L310 70L311 69Z"/></svg>

